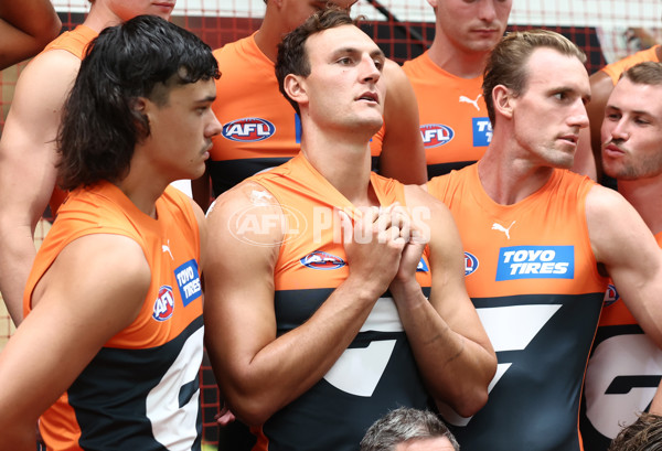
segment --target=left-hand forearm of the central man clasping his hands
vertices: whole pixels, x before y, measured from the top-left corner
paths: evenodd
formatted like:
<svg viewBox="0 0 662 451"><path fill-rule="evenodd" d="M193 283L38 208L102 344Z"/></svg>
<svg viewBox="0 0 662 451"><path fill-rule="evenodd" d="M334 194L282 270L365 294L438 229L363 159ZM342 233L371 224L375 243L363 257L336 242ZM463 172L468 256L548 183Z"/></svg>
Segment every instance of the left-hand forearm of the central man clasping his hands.
<svg viewBox="0 0 662 451"><path fill-rule="evenodd" d="M361 282L349 278L303 324L268 343L238 371L218 375L226 379L224 391L237 417L260 425L322 379L378 298Z"/></svg>

